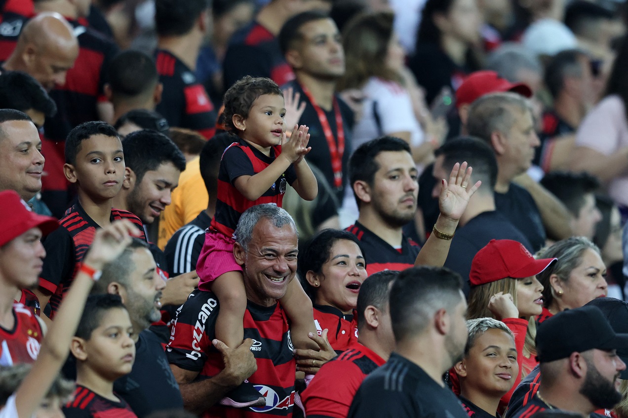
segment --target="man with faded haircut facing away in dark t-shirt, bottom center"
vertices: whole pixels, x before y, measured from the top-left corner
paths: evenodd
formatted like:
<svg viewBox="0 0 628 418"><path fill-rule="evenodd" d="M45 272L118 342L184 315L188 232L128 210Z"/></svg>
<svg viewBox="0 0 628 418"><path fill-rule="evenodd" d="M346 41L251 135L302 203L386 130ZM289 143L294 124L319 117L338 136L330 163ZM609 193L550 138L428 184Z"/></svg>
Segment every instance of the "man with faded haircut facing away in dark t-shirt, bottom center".
<svg viewBox="0 0 628 418"><path fill-rule="evenodd" d="M364 379L349 418L467 417L442 378L467 342L461 282L445 268L399 273L389 299L396 350Z"/></svg>

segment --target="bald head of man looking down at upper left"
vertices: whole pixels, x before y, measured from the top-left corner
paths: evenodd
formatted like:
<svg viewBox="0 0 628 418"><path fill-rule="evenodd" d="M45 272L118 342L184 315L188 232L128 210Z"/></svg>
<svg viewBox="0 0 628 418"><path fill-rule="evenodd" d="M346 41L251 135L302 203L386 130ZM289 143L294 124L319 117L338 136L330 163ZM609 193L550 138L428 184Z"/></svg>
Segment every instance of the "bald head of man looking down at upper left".
<svg viewBox="0 0 628 418"><path fill-rule="evenodd" d="M68 70L78 56L78 41L58 13L41 13L26 23L4 70L23 71L47 91L65 84Z"/></svg>

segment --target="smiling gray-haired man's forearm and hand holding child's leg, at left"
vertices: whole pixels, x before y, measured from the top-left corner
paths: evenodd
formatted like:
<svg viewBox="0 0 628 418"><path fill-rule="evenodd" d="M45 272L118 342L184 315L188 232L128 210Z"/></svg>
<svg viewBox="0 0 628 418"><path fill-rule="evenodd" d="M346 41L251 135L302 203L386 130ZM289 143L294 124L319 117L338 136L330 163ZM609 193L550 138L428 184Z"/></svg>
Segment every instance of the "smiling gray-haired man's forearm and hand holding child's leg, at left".
<svg viewBox="0 0 628 418"><path fill-rule="evenodd" d="M202 414L214 406L229 390L238 387L257 370L255 357L251 352L253 341L250 338L237 348L229 348L225 343L214 340L212 344L222 353L225 368L211 379L192 383L198 372L185 370L170 364L172 374L181 390L183 406L193 414Z"/></svg>

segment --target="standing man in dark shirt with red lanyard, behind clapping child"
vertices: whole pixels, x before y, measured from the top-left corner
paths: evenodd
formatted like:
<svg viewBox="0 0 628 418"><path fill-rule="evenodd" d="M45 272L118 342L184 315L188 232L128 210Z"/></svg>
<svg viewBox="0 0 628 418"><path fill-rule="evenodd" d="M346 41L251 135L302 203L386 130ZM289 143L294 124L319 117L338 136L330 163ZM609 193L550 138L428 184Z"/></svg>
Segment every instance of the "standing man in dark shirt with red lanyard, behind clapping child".
<svg viewBox="0 0 628 418"><path fill-rule="evenodd" d="M297 14L279 32L281 52L296 79L284 85L305 105L299 123L310 128L308 163L325 174L339 202L347 184L354 115L335 94L338 77L345 73L345 55L334 21L320 11ZM291 90L290 90L291 89Z"/></svg>

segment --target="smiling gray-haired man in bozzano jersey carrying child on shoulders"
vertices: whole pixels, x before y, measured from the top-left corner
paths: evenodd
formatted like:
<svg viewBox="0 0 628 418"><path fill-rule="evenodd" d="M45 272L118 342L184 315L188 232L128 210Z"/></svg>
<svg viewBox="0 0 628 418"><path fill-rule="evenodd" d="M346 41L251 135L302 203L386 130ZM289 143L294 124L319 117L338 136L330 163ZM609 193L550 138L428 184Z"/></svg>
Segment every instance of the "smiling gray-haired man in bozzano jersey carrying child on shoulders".
<svg viewBox="0 0 628 418"><path fill-rule="evenodd" d="M295 278L296 226L288 212L272 204L261 204L242 214L236 237L234 257L244 269L248 299L244 314L246 340L241 347L251 348L255 356L252 365L247 363L249 374L245 376L250 375L247 381L259 391L254 401L261 398L261 405L239 410L215 405L244 378L217 380L224 373L224 362L215 348L222 343L214 340L220 309L214 293L194 291L181 306L167 347L168 361L190 412L203 413L203 417L254 417L260 412L267 417L290 416L295 399L296 362L288 320L277 300Z"/></svg>

